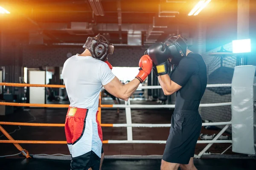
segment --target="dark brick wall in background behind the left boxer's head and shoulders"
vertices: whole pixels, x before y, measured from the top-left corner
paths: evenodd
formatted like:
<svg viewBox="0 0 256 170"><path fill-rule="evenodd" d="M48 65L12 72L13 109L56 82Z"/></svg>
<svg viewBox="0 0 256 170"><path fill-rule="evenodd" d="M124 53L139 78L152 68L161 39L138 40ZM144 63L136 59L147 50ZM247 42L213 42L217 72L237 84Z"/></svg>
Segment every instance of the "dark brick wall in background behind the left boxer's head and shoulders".
<svg viewBox="0 0 256 170"><path fill-rule="evenodd" d="M67 59L67 53L81 54L79 47L47 47L26 46L23 49L23 66L38 68L40 66L61 67ZM116 47L113 55L109 55L109 62L116 67L138 67L140 57L144 54L142 47Z"/></svg>

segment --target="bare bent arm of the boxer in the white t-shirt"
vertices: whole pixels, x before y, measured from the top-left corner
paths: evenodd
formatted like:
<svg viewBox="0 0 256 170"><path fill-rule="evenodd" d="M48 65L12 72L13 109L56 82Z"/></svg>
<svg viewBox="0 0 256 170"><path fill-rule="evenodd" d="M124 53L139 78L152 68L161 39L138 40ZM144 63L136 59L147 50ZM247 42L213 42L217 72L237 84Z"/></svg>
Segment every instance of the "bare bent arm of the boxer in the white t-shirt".
<svg viewBox="0 0 256 170"><path fill-rule="evenodd" d="M136 91L139 85L140 81L136 78L123 85L120 80L115 77L113 80L111 80L111 82L104 85L104 88L113 96L127 101L129 97Z"/></svg>

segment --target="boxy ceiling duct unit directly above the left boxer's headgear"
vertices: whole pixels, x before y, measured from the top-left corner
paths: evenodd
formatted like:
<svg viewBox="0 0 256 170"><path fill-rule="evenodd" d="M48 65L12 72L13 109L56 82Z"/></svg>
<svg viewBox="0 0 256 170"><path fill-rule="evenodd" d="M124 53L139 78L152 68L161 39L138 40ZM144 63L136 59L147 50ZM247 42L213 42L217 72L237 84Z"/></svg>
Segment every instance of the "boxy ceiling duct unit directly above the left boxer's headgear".
<svg viewBox="0 0 256 170"><path fill-rule="evenodd" d="M93 28L89 27L88 23L71 22L71 28L65 29L71 35L92 35Z"/></svg>

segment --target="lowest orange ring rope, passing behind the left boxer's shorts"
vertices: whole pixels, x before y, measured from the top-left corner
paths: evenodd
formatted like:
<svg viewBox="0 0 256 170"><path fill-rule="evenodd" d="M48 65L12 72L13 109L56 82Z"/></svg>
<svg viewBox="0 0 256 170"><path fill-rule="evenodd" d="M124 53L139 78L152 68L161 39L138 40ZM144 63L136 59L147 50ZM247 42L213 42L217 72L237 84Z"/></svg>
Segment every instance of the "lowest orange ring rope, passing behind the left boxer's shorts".
<svg viewBox="0 0 256 170"><path fill-rule="evenodd" d="M26 141L26 140L0 140L0 143L26 143L26 144L67 144L67 141ZM102 141L108 143L108 140Z"/></svg>

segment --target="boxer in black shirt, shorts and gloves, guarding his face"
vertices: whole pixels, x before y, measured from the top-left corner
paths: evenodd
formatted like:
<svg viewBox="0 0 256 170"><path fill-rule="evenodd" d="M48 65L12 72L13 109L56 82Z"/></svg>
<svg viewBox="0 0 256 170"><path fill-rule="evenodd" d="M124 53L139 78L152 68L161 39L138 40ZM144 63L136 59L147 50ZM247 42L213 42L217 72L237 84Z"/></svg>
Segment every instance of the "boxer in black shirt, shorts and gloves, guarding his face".
<svg viewBox="0 0 256 170"><path fill-rule="evenodd" d="M186 38L170 37L148 48L153 70L165 95L176 92L175 111L163 153L161 170L197 170L193 157L201 132L198 112L207 85L207 67L199 54L187 49ZM168 62L175 68L168 75Z"/></svg>

